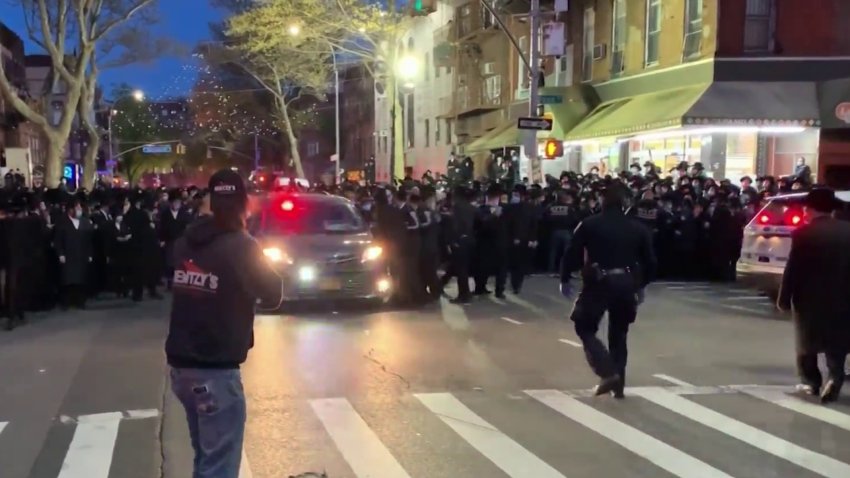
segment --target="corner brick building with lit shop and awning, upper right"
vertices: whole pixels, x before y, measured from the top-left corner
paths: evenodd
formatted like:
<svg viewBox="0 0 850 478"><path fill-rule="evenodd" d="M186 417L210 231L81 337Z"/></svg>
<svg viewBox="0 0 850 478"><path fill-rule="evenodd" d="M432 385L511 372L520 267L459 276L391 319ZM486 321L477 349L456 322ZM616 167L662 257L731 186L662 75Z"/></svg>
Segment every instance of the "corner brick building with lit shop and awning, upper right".
<svg viewBox="0 0 850 478"><path fill-rule="evenodd" d="M548 108L572 169L700 161L716 177L850 180L850 2L574 0ZM551 90L547 88L547 90Z"/></svg>

